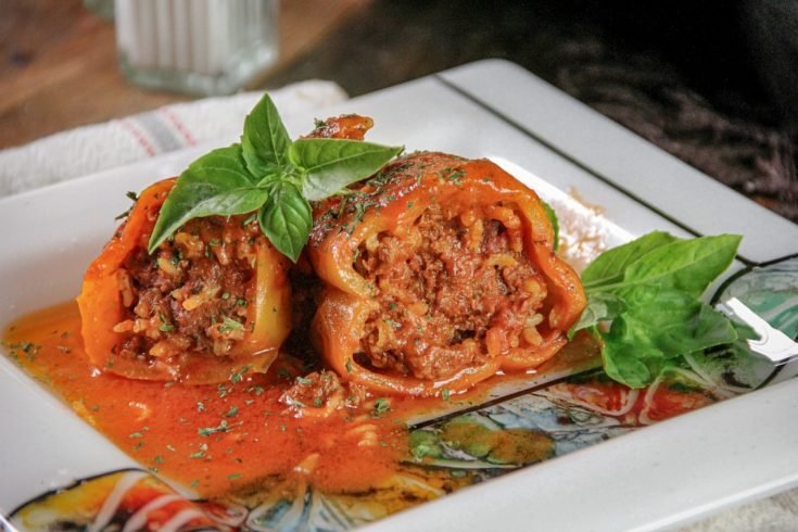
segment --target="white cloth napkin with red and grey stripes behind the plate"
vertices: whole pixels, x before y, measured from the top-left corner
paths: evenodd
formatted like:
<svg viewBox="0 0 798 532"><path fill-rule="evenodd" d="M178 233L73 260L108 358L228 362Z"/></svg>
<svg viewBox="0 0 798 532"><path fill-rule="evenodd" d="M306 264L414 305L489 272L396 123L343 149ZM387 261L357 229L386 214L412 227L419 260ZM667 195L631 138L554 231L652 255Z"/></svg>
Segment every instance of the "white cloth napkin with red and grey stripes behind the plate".
<svg viewBox="0 0 798 532"><path fill-rule="evenodd" d="M283 116L347 98L332 81L269 91ZM0 197L152 157L216 138L236 138L263 92L177 103L103 124L69 129L0 151Z"/></svg>

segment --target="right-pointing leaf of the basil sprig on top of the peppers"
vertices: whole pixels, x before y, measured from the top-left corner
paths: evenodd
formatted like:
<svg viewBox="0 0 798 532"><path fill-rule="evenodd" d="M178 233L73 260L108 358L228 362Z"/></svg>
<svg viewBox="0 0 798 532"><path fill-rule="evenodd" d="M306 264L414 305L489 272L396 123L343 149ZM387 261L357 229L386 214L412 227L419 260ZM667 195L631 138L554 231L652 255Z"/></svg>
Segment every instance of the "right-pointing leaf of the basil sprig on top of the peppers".
<svg viewBox="0 0 798 532"><path fill-rule="evenodd" d="M299 139L288 153L291 163L305 170L302 193L319 201L373 175L402 150L360 140Z"/></svg>

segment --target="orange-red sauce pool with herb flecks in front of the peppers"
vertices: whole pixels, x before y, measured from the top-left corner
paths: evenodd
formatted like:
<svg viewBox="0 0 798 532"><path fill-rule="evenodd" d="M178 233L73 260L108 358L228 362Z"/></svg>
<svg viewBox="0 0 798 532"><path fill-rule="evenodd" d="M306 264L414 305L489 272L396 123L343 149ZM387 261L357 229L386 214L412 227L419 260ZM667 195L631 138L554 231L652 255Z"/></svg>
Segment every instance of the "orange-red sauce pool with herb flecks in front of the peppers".
<svg viewBox="0 0 798 532"><path fill-rule="evenodd" d="M440 409L443 401L372 396L356 410L296 417L278 401L296 375L281 358L266 375L244 373L214 385L103 373L83 352L80 316L72 302L17 319L3 344L28 373L130 457L207 498L295 477L328 493L379 486L408 456L408 419ZM595 360L595 346L574 344L547 370ZM479 404L496 379L447 405ZM379 402L383 408L376 408Z"/></svg>

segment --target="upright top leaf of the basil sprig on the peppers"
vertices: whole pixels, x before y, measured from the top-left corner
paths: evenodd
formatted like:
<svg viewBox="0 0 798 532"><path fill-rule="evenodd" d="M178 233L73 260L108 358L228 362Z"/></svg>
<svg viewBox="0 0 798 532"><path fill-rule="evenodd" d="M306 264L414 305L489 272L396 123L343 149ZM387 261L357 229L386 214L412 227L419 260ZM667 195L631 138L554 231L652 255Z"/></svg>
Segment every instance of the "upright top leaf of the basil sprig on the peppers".
<svg viewBox="0 0 798 532"><path fill-rule="evenodd" d="M288 163L291 138L282 124L280 113L268 94L264 94L244 119L241 147L249 172L263 178L277 173Z"/></svg>

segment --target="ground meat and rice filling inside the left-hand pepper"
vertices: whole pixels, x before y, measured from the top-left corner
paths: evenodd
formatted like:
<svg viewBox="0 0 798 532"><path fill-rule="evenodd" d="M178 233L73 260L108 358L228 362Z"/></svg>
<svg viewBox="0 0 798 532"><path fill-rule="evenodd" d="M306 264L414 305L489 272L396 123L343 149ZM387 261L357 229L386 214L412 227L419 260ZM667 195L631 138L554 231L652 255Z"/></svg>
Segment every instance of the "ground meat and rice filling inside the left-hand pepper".
<svg viewBox="0 0 798 532"><path fill-rule="evenodd" d="M263 239L243 216L199 218L148 255L139 249L117 273L126 319L117 354L169 357L230 354L253 327L255 258Z"/></svg>

